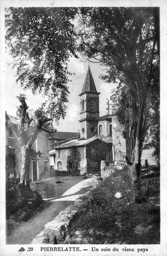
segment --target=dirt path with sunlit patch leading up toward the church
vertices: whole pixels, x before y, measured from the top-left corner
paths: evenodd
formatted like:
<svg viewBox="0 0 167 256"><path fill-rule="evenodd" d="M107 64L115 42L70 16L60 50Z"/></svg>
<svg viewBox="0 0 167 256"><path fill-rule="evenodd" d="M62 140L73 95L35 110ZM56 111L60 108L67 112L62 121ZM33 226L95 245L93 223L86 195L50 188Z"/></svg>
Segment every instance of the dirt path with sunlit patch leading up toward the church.
<svg viewBox="0 0 167 256"><path fill-rule="evenodd" d="M26 222L20 222L7 236L6 244L30 244L47 222L54 218L75 199L85 194L96 184L96 178L83 180L82 177L56 177L31 184L31 188L43 194L46 207ZM61 181L63 183L56 183Z"/></svg>

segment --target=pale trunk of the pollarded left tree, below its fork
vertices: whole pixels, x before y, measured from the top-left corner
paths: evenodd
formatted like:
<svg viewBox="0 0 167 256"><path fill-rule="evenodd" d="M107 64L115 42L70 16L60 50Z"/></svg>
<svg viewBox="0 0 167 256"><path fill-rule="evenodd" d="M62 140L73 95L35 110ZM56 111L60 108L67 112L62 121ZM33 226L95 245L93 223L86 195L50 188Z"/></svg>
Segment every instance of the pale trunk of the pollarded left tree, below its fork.
<svg viewBox="0 0 167 256"><path fill-rule="evenodd" d="M29 187L29 173L30 173L30 149L26 145L21 145L21 175L19 186Z"/></svg>

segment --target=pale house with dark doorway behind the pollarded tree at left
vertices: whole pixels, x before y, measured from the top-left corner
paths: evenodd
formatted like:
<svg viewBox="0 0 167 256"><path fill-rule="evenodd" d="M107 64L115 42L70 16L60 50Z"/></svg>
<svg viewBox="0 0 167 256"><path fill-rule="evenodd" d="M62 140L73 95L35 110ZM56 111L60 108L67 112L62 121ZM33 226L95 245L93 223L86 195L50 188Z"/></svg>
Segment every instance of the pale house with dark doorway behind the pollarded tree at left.
<svg viewBox="0 0 167 256"><path fill-rule="evenodd" d="M7 115L7 114L6 114ZM19 119L8 115L12 123L19 123ZM32 130L34 127L30 127ZM49 166L49 134L46 129L41 129L37 139L32 145L30 157L30 181L41 180L50 177ZM41 155L36 153L40 151ZM18 140L11 128L6 124L6 177L20 178L21 150Z"/></svg>

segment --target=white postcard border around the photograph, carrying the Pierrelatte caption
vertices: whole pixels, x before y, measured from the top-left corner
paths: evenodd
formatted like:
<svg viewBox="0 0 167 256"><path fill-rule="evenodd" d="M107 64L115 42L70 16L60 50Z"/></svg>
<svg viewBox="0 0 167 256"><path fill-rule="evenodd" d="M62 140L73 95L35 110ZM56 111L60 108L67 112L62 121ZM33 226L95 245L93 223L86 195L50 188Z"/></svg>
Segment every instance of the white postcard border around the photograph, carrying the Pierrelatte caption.
<svg viewBox="0 0 167 256"><path fill-rule="evenodd" d="M46 6L123 6L123 7L132 7L132 6L158 6L160 7L160 26L161 26L161 244L160 245L96 245L96 248L99 249L98 252L91 252L92 245L71 245L71 246L78 246L80 249L88 249L90 251L81 251L81 252L40 252L40 245L6 245L5 244L5 154L4 154L4 145L5 145L5 126L4 126L4 120L5 120L5 106L4 106L4 86L5 86L5 40L4 40L4 7L46 7ZM167 243L166 243L166 227L167 227L167 218L166 218L166 127L167 127L167 118L166 118L166 81L167 81L167 23L166 23L166 17L167 17L167 2L166 0L1 0L0 3L0 11L1 11L1 133L0 133L0 141L1 141L1 234L0 234L0 241L1 241L1 247L0 247L0 254L2 256L5 255L166 255L167 253ZM43 247L46 245L42 245ZM54 246L54 245L47 245L48 247ZM61 247L69 247L70 245L60 245ZM26 249L28 247L34 247L33 252L18 252L20 247L25 247ZM119 252L102 252L101 248L111 248L114 247L119 248ZM127 248L148 248L148 252L125 252L121 253L123 247ZM88 253L90 252L90 253Z"/></svg>

